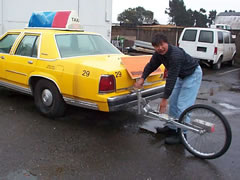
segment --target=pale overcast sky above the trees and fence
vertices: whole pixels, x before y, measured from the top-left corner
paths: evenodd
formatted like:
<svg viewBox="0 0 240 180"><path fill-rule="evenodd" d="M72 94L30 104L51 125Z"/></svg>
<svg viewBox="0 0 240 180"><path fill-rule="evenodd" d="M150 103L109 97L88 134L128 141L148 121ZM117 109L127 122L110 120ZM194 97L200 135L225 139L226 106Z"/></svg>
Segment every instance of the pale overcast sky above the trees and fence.
<svg viewBox="0 0 240 180"><path fill-rule="evenodd" d="M125 9L142 6L146 10L154 12L154 18L160 24L168 23L168 15L165 14L165 9L169 7L169 0L113 0L113 16L112 22L117 22L117 16ZM184 0L187 9L198 10L204 8L207 13L211 10L216 10L217 13L225 10L235 10L240 12L239 0Z"/></svg>

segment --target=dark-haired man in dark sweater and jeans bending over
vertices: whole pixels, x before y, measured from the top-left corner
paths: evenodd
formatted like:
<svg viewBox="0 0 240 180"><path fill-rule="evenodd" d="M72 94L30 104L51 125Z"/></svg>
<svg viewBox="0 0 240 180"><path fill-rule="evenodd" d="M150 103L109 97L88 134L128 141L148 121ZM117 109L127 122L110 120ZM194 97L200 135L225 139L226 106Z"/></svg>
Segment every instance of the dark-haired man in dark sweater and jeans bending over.
<svg viewBox="0 0 240 180"><path fill-rule="evenodd" d="M166 112L169 99L169 115L179 118L186 108L195 103L202 80L201 67L198 60L192 58L183 49L168 44L167 37L163 34L155 35L152 45L155 52L134 87L141 88L148 75L164 64L168 76L159 111ZM176 127L166 125L164 128L157 128L157 131L172 133L172 136L165 139L166 144L180 143Z"/></svg>

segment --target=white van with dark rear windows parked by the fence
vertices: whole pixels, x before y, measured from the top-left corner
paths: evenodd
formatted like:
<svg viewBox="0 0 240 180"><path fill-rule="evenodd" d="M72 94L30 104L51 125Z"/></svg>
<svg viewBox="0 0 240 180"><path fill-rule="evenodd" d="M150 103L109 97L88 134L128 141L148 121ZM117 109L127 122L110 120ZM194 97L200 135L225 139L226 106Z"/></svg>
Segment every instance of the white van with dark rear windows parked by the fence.
<svg viewBox="0 0 240 180"><path fill-rule="evenodd" d="M214 28L185 28L179 39L179 47L192 57L220 69L221 63L233 65L236 45L231 32Z"/></svg>

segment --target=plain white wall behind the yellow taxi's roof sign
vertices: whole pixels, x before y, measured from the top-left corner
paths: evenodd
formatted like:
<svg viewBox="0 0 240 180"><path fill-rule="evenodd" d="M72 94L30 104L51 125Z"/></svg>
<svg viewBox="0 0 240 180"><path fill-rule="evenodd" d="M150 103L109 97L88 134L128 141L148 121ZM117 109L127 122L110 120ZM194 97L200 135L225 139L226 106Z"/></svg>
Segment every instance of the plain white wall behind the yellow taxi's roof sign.
<svg viewBox="0 0 240 180"><path fill-rule="evenodd" d="M111 39L112 0L0 0L0 34L24 28L34 11L75 10L85 31Z"/></svg>

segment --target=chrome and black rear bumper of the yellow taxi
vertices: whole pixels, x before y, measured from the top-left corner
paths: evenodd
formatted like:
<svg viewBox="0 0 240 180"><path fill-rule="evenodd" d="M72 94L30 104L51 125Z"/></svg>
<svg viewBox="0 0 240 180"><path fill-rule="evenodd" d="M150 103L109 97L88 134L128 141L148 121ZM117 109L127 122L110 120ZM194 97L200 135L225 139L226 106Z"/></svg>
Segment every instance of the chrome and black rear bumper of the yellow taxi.
<svg viewBox="0 0 240 180"><path fill-rule="evenodd" d="M164 88L165 85L143 90L142 97L146 100L161 98L164 93ZM108 98L109 111L118 111L135 105L137 105L136 92Z"/></svg>

